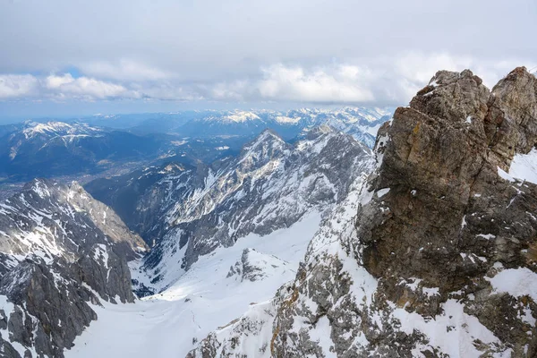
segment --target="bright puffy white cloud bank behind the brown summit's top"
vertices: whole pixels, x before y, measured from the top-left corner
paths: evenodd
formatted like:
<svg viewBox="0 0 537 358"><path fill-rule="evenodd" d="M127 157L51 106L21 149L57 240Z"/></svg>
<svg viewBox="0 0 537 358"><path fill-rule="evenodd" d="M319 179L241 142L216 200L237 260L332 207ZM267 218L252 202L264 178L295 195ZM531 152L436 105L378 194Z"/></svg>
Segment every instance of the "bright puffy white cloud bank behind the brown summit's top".
<svg viewBox="0 0 537 358"><path fill-rule="evenodd" d="M418 52L310 67L274 64L261 68L258 79L218 82L209 96L241 101L405 105L439 70L461 72L470 68L491 87L521 64L524 62L483 62L470 56Z"/></svg>

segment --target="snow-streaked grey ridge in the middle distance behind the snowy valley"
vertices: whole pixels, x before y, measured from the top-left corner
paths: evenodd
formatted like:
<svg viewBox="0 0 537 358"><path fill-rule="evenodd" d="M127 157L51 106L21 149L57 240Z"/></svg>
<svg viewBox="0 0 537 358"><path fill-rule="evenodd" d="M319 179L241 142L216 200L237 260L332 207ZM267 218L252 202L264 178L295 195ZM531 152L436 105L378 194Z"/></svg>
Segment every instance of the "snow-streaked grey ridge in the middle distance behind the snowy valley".
<svg viewBox="0 0 537 358"><path fill-rule="evenodd" d="M248 234L292 226L311 211L328 211L371 166L370 149L328 126L294 144L267 130L236 158L196 168L149 168L119 185L110 179L87 188L112 207L118 192L132 195L133 188L142 188L138 200L132 195L130 212L117 211L148 243L156 243L137 279L161 291L200 255Z"/></svg>

